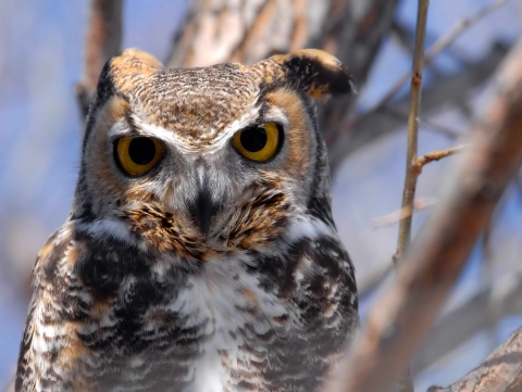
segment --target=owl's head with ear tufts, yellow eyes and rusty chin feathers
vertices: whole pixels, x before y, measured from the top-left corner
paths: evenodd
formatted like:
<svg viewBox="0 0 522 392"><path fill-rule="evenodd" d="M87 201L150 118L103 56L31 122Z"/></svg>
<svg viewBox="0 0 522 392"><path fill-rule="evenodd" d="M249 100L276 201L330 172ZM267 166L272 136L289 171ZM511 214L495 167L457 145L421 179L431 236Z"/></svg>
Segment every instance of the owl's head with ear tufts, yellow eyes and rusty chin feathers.
<svg viewBox="0 0 522 392"><path fill-rule="evenodd" d="M320 50L190 69L126 50L100 76L72 217L202 261L270 248L306 216L332 225L314 99L351 88Z"/></svg>

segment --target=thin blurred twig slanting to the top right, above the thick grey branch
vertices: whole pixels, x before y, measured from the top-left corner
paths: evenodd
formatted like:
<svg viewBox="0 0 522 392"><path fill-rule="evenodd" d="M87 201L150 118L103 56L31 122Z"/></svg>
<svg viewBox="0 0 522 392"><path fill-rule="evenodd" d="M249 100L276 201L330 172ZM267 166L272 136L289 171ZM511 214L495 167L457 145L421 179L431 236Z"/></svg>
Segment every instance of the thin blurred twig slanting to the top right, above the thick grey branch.
<svg viewBox="0 0 522 392"><path fill-rule="evenodd" d="M438 38L435 43L433 43L430 49L426 50L426 56L424 58L424 65L428 65L433 62L433 60L448 46L453 42L453 40L462 34L467 28L471 27L472 25L476 24L477 22L482 21L485 16L490 14L492 12L499 9L501 5L507 3L510 0L497 0L494 1L492 4L486 7L485 9L478 11L476 14L473 14L467 18L458 21L453 27L445 34L440 38ZM391 101L391 99L399 92L399 90L405 86L405 84L410 79L412 73L409 71L401 75L390 87L388 92L381 98L381 100L374 104L371 109L368 110L366 113L374 113L382 110L386 104ZM363 114L364 115L364 114ZM357 119L356 119L357 122Z"/></svg>

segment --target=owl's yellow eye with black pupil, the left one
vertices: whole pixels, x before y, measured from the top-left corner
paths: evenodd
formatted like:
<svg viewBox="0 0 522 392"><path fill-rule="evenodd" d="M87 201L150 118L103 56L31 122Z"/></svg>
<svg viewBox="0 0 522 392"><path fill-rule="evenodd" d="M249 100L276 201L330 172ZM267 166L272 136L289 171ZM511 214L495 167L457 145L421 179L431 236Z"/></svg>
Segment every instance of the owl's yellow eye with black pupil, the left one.
<svg viewBox="0 0 522 392"><path fill-rule="evenodd" d="M124 136L117 139L116 156L122 168L130 176L150 170L163 155L163 146L156 139Z"/></svg>

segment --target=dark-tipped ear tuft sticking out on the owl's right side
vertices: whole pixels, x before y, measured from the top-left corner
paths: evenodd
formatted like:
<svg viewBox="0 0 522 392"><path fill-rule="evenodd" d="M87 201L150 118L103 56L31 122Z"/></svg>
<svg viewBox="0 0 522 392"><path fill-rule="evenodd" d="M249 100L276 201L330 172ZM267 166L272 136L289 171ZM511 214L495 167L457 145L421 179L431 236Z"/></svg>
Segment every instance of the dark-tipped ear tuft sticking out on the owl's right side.
<svg viewBox="0 0 522 392"><path fill-rule="evenodd" d="M283 71L283 78L297 84L318 100L356 92L353 81L343 63L325 51L302 49L270 58Z"/></svg>

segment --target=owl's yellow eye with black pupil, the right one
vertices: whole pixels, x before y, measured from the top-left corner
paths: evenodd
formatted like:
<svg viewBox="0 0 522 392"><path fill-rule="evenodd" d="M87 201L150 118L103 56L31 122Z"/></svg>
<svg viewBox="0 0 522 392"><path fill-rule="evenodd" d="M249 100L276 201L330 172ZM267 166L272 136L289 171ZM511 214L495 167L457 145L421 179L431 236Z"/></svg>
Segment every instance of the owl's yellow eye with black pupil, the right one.
<svg viewBox="0 0 522 392"><path fill-rule="evenodd" d="M234 135L232 146L251 161L268 161L277 152L279 129L274 123L241 129Z"/></svg>

